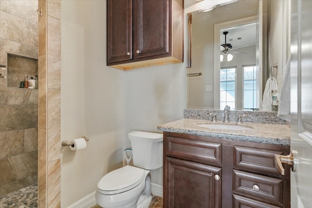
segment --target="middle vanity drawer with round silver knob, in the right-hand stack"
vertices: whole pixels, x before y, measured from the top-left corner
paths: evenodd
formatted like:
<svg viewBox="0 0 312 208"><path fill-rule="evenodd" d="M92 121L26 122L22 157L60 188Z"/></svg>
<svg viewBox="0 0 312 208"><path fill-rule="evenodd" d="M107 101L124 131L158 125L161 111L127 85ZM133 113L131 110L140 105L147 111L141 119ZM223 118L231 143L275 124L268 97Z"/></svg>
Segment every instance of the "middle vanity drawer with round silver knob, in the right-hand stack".
<svg viewBox="0 0 312 208"><path fill-rule="evenodd" d="M283 180L233 170L233 193L283 206Z"/></svg>

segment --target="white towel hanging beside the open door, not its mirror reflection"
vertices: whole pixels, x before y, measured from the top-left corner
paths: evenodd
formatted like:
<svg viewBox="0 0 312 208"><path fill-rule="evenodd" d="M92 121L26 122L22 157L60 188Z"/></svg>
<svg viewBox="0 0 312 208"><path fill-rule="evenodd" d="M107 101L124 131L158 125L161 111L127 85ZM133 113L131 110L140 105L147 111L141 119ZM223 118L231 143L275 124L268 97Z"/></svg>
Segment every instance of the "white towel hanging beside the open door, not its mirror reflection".
<svg viewBox="0 0 312 208"><path fill-rule="evenodd" d="M281 96L277 116L291 121L291 58L289 57L286 64L285 75L281 88Z"/></svg>

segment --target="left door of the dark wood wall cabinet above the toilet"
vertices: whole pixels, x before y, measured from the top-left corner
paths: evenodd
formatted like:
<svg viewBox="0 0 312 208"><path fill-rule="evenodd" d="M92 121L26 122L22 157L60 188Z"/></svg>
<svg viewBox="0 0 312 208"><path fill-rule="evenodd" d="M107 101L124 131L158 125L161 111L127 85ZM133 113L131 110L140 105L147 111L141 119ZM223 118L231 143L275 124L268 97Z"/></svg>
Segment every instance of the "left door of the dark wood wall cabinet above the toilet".
<svg viewBox="0 0 312 208"><path fill-rule="evenodd" d="M132 0L107 0L107 63L133 59Z"/></svg>

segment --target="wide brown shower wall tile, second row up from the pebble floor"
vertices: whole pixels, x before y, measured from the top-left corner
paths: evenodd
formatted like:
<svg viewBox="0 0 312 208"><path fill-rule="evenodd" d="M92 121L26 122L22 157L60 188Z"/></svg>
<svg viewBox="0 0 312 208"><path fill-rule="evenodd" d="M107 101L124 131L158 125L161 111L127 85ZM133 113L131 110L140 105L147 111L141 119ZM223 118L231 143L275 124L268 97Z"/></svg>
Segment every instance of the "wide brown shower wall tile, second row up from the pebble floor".
<svg viewBox="0 0 312 208"><path fill-rule="evenodd" d="M38 151L0 159L0 186L37 174Z"/></svg>

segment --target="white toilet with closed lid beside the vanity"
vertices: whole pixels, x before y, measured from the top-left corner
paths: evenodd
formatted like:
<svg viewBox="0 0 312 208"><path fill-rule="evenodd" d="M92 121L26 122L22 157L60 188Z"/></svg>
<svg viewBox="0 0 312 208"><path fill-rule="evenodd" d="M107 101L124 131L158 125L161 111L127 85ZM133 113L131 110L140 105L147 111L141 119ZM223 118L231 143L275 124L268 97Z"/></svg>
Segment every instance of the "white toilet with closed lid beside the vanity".
<svg viewBox="0 0 312 208"><path fill-rule="evenodd" d="M133 166L104 175L98 182L96 200L103 208L149 208L151 177L149 170L162 167L163 136L160 133L128 133L133 151Z"/></svg>

